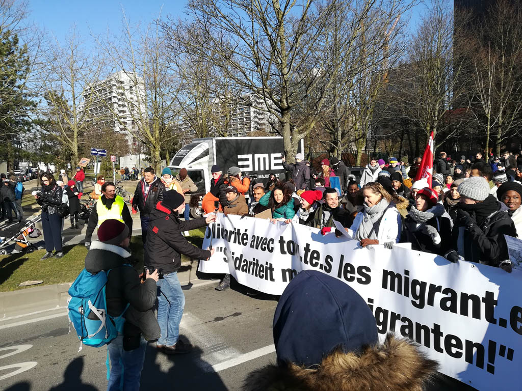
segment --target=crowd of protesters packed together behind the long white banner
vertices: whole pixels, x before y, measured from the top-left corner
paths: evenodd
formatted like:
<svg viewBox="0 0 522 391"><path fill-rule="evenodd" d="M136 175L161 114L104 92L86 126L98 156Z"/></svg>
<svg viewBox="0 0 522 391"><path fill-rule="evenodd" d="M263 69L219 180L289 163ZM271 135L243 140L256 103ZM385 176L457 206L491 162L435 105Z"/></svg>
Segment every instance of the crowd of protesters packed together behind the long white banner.
<svg viewBox="0 0 522 391"><path fill-rule="evenodd" d="M426 179L415 180L421 158L412 161L410 166L407 157L387 162L371 157L356 181L335 157L325 158L315 171L298 153L295 164L283 158L288 177L271 174L265 184L251 184L248 176L241 179L238 167L223 175L215 165L203 207L207 213L216 208L274 223L299 223L321 229L323 235L340 235L336 220L362 247L392 248L407 242L414 250L452 262L480 262L511 271L504 235L517 237L517 228L522 234L522 159L506 151L489 160L478 152L457 161L440 152L431 186ZM248 184L250 204L244 197ZM229 286L226 275L217 289Z"/></svg>

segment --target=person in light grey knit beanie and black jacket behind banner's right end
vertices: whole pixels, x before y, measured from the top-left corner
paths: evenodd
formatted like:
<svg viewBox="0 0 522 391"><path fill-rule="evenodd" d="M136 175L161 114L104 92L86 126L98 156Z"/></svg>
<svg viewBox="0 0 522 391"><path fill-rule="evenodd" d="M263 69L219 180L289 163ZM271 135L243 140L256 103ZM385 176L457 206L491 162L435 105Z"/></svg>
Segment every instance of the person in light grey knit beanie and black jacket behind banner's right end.
<svg viewBox="0 0 522 391"><path fill-rule="evenodd" d="M466 179L458 192L460 203L450 241L452 249L445 258L456 262L462 257L511 271L504 235L516 237L516 229L507 206L490 194L488 181L483 177Z"/></svg>

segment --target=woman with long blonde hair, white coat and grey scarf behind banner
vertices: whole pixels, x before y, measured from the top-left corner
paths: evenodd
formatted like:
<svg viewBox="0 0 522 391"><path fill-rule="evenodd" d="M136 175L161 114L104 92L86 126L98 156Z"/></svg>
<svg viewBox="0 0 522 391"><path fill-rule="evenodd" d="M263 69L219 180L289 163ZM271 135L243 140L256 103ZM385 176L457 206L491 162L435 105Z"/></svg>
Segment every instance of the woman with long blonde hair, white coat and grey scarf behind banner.
<svg viewBox="0 0 522 391"><path fill-rule="evenodd" d="M400 239L402 222L392 195L378 182L364 185L362 194L364 210L355 216L348 233L362 247L379 244L393 247Z"/></svg>

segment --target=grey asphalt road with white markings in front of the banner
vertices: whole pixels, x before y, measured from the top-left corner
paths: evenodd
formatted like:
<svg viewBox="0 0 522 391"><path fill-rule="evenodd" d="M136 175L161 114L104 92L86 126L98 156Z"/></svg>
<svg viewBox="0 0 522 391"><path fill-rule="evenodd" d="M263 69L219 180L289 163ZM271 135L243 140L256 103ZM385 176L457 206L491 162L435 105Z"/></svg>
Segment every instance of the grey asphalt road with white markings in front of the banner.
<svg viewBox="0 0 522 391"><path fill-rule="evenodd" d="M181 323L182 338L195 345L194 352L168 357L150 344L141 390L239 390L249 371L275 361L274 298L232 289L218 292L218 281L197 283L185 290ZM67 316L63 310L53 314L53 319L0 329L0 389L106 389L106 348L84 347L78 352L75 332L68 334Z"/></svg>

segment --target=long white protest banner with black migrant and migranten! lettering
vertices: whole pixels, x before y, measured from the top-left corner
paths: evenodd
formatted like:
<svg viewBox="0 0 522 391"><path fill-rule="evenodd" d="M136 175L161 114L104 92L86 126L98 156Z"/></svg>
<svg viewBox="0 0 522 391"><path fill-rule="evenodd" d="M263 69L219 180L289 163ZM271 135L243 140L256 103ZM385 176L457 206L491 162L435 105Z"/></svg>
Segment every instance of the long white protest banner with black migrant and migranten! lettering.
<svg viewBox="0 0 522 391"><path fill-rule="evenodd" d="M519 389L522 364L520 273L395 247L360 248L299 224L219 213L203 248L216 253L198 270L230 273L240 284L280 295L302 270L354 288L372 309L381 338L416 340L441 372L479 389Z"/></svg>

